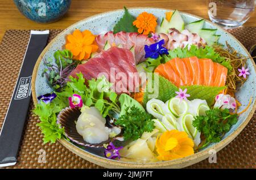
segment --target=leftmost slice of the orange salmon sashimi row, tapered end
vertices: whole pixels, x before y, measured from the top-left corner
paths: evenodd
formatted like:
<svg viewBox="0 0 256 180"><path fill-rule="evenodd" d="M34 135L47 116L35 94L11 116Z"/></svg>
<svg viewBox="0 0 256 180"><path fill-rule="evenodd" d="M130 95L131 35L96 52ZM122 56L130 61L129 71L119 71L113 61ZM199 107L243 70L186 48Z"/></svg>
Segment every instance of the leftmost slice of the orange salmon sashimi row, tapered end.
<svg viewBox="0 0 256 180"><path fill-rule="evenodd" d="M156 67L154 72L158 72L160 76L163 76L164 78L168 79L177 87L180 87L180 85L184 85L183 80L180 79L180 77L174 72L170 65L161 64L158 67Z"/></svg>

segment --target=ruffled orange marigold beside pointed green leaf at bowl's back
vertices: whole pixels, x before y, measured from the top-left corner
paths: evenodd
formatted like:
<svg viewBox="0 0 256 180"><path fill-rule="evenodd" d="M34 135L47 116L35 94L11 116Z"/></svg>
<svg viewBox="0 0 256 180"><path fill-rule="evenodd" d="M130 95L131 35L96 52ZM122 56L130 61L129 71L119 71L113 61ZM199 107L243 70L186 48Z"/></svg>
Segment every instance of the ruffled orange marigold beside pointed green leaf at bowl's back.
<svg viewBox="0 0 256 180"><path fill-rule="evenodd" d="M143 35L148 35L150 32L155 33L156 17L150 13L142 12L133 22L133 25L136 25L138 32L143 33Z"/></svg>

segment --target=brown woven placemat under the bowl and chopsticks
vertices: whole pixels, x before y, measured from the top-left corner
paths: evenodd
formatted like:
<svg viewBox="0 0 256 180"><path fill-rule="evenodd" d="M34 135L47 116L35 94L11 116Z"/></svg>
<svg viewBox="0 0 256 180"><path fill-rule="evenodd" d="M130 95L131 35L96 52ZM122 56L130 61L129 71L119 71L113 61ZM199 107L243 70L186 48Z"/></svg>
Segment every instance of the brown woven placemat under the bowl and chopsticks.
<svg viewBox="0 0 256 180"><path fill-rule="evenodd" d="M49 41L60 32L61 30L51 30ZM238 28L231 32L247 49L256 44L256 28ZM9 106L29 37L30 31L9 30L6 31L0 45L0 127ZM33 108L31 100L30 110ZM37 123L38 117L32 117L32 113L28 112L18 162L15 166L7 168L102 168L68 151L58 142L43 144L43 136L36 126ZM256 114L241 134L217 153L216 164L210 164L207 159L188 168L256 168L255 125ZM38 161L41 149L46 152L46 163Z"/></svg>

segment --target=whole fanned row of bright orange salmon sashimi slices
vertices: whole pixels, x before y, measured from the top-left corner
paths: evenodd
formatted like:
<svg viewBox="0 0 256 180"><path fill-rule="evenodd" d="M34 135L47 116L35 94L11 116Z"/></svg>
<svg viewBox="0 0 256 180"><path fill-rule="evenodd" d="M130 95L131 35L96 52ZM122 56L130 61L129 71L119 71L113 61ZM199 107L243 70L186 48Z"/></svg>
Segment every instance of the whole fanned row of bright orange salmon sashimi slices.
<svg viewBox="0 0 256 180"><path fill-rule="evenodd" d="M155 72L170 80L177 87L181 85L224 86L228 69L211 59L197 57L174 58L156 67Z"/></svg>

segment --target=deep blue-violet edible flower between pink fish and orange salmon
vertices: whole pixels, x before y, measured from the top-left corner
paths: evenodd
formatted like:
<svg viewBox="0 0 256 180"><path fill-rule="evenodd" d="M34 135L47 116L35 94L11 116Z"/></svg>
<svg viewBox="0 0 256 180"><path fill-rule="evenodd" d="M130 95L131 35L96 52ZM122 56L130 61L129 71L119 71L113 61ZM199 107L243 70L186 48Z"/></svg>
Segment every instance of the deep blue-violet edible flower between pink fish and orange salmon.
<svg viewBox="0 0 256 180"><path fill-rule="evenodd" d="M159 57L159 55L163 54L169 54L168 50L164 48L162 45L164 45L164 40L161 40L159 42L156 42L155 44L151 44L150 46L145 45L145 58L153 58L156 59Z"/></svg>

